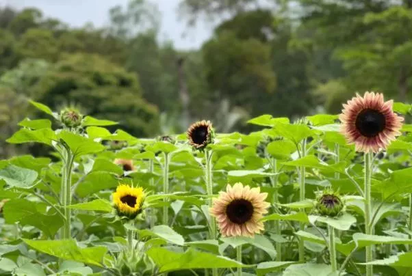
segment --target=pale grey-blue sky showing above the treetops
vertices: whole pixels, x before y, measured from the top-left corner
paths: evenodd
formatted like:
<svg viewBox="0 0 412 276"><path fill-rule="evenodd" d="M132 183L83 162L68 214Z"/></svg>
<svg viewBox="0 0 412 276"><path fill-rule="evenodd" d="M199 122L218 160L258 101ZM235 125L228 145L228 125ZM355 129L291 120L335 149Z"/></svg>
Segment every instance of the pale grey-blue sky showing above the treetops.
<svg viewBox="0 0 412 276"><path fill-rule="evenodd" d="M149 0L159 5L162 12L161 40L172 40L177 49L197 49L213 31L213 25L199 22L196 27L187 27L185 18L179 18L177 8L180 0ZM128 0L0 0L0 7L36 7L45 16L59 18L81 27L91 22L96 27L107 25L108 11L114 5L125 5Z"/></svg>

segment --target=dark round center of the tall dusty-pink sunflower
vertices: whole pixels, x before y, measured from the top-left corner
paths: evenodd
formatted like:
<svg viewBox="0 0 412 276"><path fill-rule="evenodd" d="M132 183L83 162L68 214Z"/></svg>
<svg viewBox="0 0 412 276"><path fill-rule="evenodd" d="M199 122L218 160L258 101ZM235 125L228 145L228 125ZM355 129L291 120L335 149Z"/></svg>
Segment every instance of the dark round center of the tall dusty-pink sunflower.
<svg viewBox="0 0 412 276"><path fill-rule="evenodd" d="M365 109L356 118L356 128L365 137L375 137L385 129L385 115L374 109Z"/></svg>

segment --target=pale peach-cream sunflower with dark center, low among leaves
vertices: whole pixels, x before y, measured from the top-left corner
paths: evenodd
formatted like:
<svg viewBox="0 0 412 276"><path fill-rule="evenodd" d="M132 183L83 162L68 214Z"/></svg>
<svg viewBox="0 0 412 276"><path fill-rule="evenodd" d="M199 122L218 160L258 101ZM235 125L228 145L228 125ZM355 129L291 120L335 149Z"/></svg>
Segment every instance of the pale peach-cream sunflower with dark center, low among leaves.
<svg viewBox="0 0 412 276"><path fill-rule="evenodd" d="M260 193L259 188L236 183L227 185L226 192L214 198L210 208L212 216L218 221L222 236L254 236L264 229L260 219L270 206L265 202L268 193Z"/></svg>

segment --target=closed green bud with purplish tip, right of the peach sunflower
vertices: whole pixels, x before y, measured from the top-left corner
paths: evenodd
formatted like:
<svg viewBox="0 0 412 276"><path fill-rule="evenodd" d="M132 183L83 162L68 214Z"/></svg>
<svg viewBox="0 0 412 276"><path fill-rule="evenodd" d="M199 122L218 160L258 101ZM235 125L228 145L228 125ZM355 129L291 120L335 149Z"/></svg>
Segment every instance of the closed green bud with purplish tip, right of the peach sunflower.
<svg viewBox="0 0 412 276"><path fill-rule="evenodd" d="M344 210L339 193L330 190L323 191L316 199L316 210L322 216L337 217Z"/></svg>

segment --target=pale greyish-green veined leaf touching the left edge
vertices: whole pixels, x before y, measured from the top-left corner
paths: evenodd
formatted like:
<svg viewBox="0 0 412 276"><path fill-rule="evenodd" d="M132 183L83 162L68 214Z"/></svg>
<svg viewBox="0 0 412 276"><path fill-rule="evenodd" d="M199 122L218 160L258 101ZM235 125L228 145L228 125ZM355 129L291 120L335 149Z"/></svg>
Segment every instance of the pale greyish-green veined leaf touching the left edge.
<svg viewBox="0 0 412 276"><path fill-rule="evenodd" d="M0 169L0 179L4 180L11 187L30 189L36 185L34 182L37 177L37 171L14 165L8 165L4 169Z"/></svg>

